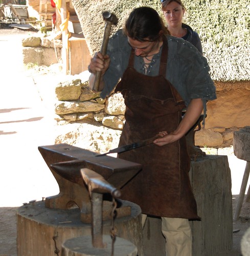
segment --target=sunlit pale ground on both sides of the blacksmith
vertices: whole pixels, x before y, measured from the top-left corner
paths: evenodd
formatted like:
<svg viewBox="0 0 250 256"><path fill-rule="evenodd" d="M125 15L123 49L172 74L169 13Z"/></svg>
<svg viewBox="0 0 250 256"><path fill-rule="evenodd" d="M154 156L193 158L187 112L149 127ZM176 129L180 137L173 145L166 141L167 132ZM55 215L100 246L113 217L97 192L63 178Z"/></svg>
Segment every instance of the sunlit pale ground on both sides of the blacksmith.
<svg viewBox="0 0 250 256"><path fill-rule="evenodd" d="M16 255L16 209L24 202L41 200L59 191L37 146L54 144L52 80L61 74L46 68L25 70L21 39L32 34L36 32L0 29L0 256ZM232 147L218 152L208 148L207 154L228 156L234 216L245 162L234 156ZM233 222L232 250L212 256L241 255L240 241L248 227L250 203L244 202L240 218Z"/></svg>

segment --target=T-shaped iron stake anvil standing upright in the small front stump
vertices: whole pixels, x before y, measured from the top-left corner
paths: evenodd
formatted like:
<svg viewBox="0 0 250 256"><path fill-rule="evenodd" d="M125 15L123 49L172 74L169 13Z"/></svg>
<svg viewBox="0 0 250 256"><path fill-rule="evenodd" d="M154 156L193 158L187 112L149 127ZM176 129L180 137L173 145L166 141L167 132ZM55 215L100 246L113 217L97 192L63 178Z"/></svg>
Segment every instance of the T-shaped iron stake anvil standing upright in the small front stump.
<svg viewBox="0 0 250 256"><path fill-rule="evenodd" d="M95 248L105 248L103 244L102 203L103 193L110 193L113 198L119 198L121 191L108 183L100 174L88 168L81 169L81 176L88 187L92 204L92 245Z"/></svg>

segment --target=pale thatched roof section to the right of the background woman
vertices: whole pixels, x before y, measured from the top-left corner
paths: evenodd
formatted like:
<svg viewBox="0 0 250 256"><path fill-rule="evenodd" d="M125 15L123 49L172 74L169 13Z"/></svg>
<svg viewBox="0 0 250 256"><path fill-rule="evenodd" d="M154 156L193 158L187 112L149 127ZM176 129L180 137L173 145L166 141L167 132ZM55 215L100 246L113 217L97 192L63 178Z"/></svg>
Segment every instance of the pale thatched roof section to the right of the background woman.
<svg viewBox="0 0 250 256"><path fill-rule="evenodd" d="M201 38L216 81L250 80L249 0L186 0L187 24Z"/></svg>

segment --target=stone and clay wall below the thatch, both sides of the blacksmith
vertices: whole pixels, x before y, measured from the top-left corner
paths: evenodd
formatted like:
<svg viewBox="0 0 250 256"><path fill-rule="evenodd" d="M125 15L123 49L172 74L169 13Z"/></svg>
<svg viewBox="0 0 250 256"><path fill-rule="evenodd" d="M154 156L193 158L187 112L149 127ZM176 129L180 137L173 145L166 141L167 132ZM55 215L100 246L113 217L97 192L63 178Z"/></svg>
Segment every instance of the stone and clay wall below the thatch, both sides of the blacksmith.
<svg viewBox="0 0 250 256"><path fill-rule="evenodd" d="M56 87L58 102L55 113L59 123L88 123L96 127L118 131L120 136L125 122L125 105L120 93L106 99L88 88L81 79L63 81ZM228 87L227 87L228 88ZM220 89L217 99L207 104L205 129L195 133L195 145L228 147L232 145L234 131L250 125L250 90ZM97 128L100 129L100 128Z"/></svg>

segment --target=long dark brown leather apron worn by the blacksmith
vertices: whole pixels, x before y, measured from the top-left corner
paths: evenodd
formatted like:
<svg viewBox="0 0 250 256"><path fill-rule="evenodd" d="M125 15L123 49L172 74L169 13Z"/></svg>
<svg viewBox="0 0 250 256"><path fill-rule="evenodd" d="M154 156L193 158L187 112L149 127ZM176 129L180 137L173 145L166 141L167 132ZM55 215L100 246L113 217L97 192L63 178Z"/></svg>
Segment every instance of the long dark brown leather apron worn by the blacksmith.
<svg viewBox="0 0 250 256"><path fill-rule="evenodd" d="M151 138L161 131L171 133L181 121L185 104L165 79L167 59L168 45L164 38L159 75L147 76L133 68L134 51L131 51L128 68L115 90L122 93L126 105L119 146ZM138 204L143 214L200 219L188 175L190 158L185 136L168 145L150 144L120 153L118 157L143 166L122 187L121 199Z"/></svg>

